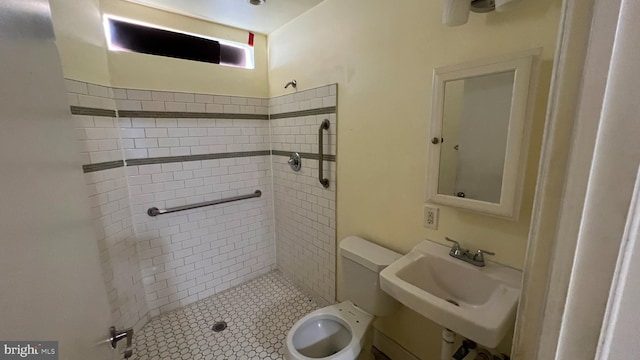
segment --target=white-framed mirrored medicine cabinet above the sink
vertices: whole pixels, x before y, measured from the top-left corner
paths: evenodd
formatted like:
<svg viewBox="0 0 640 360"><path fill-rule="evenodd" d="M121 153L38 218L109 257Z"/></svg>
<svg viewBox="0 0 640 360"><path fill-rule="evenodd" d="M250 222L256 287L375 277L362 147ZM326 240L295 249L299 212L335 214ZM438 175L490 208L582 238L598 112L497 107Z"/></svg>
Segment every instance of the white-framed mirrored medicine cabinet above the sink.
<svg viewBox="0 0 640 360"><path fill-rule="evenodd" d="M518 218L540 53L434 70L427 202Z"/></svg>

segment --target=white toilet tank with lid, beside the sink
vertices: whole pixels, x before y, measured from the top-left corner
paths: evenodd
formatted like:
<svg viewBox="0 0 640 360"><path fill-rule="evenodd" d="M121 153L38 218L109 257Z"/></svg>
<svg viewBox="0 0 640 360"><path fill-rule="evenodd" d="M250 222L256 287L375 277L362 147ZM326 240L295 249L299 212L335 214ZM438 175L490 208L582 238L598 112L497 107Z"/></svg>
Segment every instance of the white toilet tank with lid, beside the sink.
<svg viewBox="0 0 640 360"><path fill-rule="evenodd" d="M389 315L400 305L380 289L382 269L402 257L357 236L349 236L340 243L342 258L342 289L344 298L376 316Z"/></svg>

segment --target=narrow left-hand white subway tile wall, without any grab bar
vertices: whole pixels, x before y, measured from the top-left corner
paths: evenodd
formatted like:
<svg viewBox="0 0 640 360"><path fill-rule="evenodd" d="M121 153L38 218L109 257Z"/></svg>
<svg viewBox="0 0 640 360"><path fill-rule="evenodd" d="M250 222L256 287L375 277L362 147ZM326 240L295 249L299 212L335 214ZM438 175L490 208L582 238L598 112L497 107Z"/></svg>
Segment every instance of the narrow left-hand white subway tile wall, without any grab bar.
<svg viewBox="0 0 640 360"><path fill-rule="evenodd" d="M67 80L70 104L115 110L110 88ZM79 99L79 101L75 101ZM122 160L115 117L72 115L84 164ZM85 183L113 324L139 330L149 320L123 168L90 172Z"/></svg>

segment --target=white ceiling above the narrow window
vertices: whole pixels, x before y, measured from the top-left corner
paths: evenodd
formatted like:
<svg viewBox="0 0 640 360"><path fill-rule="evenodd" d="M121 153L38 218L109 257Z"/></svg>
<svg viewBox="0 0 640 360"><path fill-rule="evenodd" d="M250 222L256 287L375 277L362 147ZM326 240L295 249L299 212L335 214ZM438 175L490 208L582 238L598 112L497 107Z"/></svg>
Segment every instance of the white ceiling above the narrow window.
<svg viewBox="0 0 640 360"><path fill-rule="evenodd" d="M127 0L182 15L261 34L269 34L322 0L266 0L260 6L249 0Z"/></svg>

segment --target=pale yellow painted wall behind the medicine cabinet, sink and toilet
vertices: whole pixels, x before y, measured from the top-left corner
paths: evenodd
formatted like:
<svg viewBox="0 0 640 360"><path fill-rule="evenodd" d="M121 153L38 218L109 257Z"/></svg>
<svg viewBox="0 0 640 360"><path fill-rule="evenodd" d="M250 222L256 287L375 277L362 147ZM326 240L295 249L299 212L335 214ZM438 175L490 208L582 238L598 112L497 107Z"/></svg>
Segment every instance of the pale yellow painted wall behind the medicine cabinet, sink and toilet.
<svg viewBox="0 0 640 360"><path fill-rule="evenodd" d="M338 239L360 235L406 253L449 236L524 266L560 6L522 1L448 28L440 1L325 0L269 36L270 96L290 92L292 78L300 90L339 84ZM442 206L439 229L423 228L432 70L535 47L542 67L520 219ZM377 326L423 359L438 356L439 327L407 309Z"/></svg>

